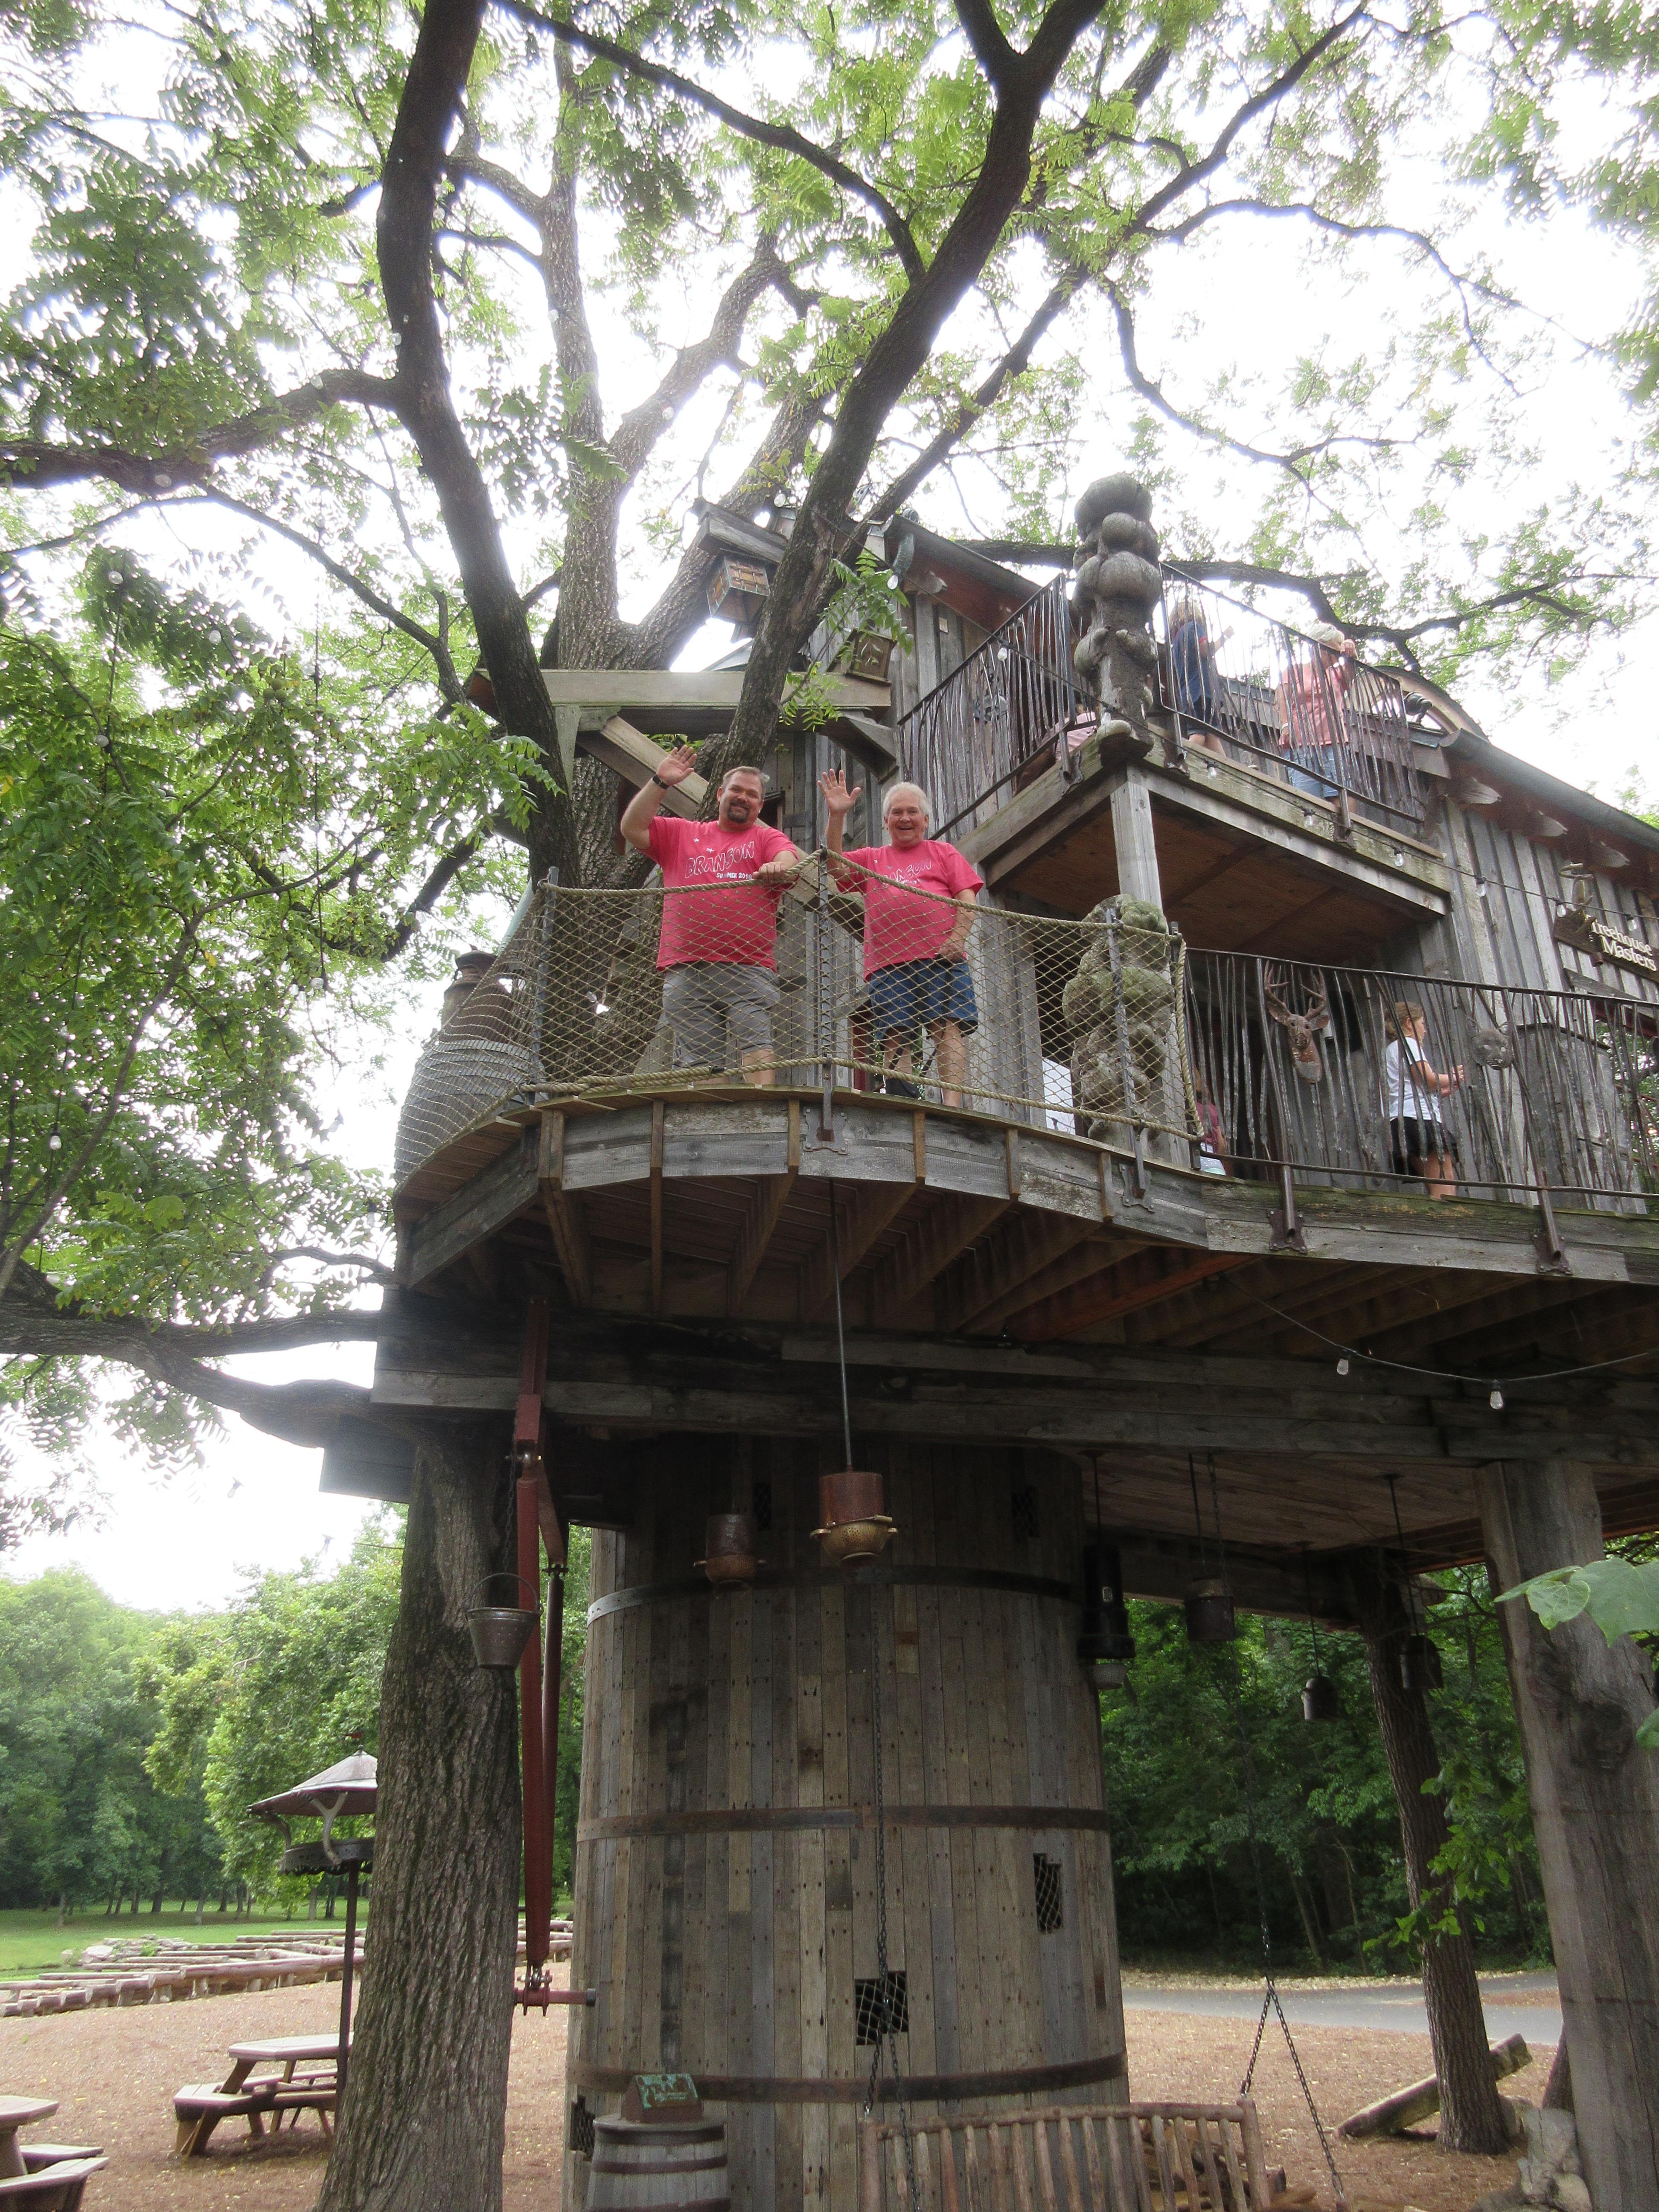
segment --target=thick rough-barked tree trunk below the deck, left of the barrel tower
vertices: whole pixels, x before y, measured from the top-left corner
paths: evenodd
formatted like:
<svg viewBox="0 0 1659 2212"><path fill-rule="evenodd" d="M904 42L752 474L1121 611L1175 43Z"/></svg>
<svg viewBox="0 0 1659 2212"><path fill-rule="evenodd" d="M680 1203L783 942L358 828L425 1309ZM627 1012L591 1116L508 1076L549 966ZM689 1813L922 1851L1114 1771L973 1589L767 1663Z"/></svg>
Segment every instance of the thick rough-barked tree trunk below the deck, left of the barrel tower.
<svg viewBox="0 0 1659 2212"><path fill-rule="evenodd" d="M380 1692L363 2004L316 2212L500 2212L518 1936L518 1677L473 1666L467 1604L507 1562L507 1427L416 1442Z"/></svg>

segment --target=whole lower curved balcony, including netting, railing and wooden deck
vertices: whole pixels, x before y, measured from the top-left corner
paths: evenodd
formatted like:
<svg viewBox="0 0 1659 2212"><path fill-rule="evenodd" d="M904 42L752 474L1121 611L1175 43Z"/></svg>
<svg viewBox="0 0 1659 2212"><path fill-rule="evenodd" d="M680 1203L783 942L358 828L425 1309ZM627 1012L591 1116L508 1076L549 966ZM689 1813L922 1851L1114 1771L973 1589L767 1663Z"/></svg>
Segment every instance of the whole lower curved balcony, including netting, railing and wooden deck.
<svg viewBox="0 0 1659 2212"><path fill-rule="evenodd" d="M1559 1327L1613 1294L1610 1340L1646 1312L1652 1009L980 907L953 978L922 960L947 995L894 1015L854 891L823 856L776 900L542 889L416 1071L403 1279L785 1327L841 1292L863 1327L1183 1347L1310 1296L1323 1327L1385 1274L1398 1325L1491 1298ZM894 896L918 947L962 911Z"/></svg>

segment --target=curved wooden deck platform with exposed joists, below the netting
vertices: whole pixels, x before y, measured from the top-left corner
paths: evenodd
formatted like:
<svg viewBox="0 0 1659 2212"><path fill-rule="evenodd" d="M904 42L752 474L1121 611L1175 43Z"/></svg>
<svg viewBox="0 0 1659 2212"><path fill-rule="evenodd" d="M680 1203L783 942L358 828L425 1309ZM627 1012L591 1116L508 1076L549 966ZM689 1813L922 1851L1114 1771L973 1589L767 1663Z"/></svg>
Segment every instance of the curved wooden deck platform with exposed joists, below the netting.
<svg viewBox="0 0 1659 2212"><path fill-rule="evenodd" d="M400 1279L467 1296L546 1283L615 1316L834 1318L1042 1345L1336 1345L1478 1367L1659 1343L1659 1217L1203 1177L989 1117L752 1091L518 1108L400 1190Z"/></svg>

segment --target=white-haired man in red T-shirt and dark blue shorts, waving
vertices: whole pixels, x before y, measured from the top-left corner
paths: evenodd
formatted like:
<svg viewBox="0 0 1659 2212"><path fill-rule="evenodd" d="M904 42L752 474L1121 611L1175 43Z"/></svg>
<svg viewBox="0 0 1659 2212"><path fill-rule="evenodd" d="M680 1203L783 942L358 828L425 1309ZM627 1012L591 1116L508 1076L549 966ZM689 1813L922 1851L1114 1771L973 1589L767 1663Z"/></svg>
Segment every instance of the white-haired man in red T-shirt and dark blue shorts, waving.
<svg viewBox="0 0 1659 2212"><path fill-rule="evenodd" d="M967 1040L980 1026L967 940L975 894L984 889L969 863L945 838L931 838L927 792L894 783L883 801L885 845L843 849L847 816L863 785L847 790L836 768L818 776L830 847L830 869L843 891L865 900L865 982L869 1020L880 1040L889 1097L918 1099L916 1040L933 1040L940 1102L962 1104Z"/></svg>

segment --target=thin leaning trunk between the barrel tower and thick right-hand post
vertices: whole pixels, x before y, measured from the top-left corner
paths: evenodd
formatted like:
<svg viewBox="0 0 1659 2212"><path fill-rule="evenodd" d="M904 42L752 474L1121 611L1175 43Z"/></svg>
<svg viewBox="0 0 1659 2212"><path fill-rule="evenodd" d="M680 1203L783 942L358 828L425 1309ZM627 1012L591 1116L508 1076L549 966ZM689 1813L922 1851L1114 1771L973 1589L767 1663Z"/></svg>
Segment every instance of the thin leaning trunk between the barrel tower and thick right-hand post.
<svg viewBox="0 0 1659 2212"><path fill-rule="evenodd" d="M1422 1785L1440 1772L1440 1754L1433 1747L1422 1681L1413 1677L1407 1690L1400 1679L1400 1652L1411 1621L1400 1586L1387 1575L1367 1579L1360 1588L1360 1628L1383 1750L1400 1805L1407 1896L1413 1909L1427 1898L1440 1913L1451 1909L1451 1885L1433 1874L1433 1860L1447 1843L1447 1812L1438 1796L1422 1794ZM1422 1947L1422 2002L1429 2013L1433 2070L1440 2075L1442 2148L1504 2150L1504 2115L1491 2070L1475 1953L1462 1913L1453 1911L1453 1927L1431 1936Z"/></svg>

